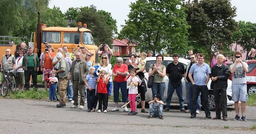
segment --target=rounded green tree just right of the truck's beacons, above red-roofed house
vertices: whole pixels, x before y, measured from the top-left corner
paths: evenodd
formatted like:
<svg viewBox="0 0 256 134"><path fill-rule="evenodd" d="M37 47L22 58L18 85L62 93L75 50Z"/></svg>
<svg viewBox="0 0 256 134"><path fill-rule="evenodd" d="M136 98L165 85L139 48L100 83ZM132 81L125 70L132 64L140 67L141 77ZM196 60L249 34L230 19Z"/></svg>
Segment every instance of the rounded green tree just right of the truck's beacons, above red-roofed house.
<svg viewBox="0 0 256 134"><path fill-rule="evenodd" d="M102 11L101 11L102 13ZM76 21L87 24L87 28L92 31L94 42L97 46L100 44L108 44L112 47L113 44L113 31L115 31L116 22L111 24L115 20L108 22L108 16L101 14L97 11L96 7L91 5L90 7L80 8L80 12L77 16ZM108 12L106 12L110 15ZM111 24L111 25L109 25Z"/></svg>

